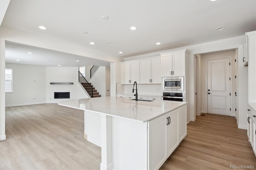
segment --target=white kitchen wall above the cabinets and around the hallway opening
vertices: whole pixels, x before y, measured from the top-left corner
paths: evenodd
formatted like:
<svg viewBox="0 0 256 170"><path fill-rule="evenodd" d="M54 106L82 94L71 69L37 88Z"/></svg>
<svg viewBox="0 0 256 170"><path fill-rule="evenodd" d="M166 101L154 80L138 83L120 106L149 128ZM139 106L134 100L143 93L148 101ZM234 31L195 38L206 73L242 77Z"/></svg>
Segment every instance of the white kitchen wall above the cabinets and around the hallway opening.
<svg viewBox="0 0 256 170"><path fill-rule="evenodd" d="M125 61L130 61L133 59L142 59L146 57L154 57L159 55L159 53L174 51L179 49L188 49L190 51L190 99L188 100L188 109L190 110L190 118L194 119L195 116L195 93L194 93L194 55L200 53L209 53L214 51L222 51L227 49L238 48L238 128L247 128L246 122L246 101L248 101L248 68L243 67L242 64L242 41L244 36L238 36L234 38L228 38L224 40L218 40L214 42L202 43L197 45L191 45L186 47L180 47L176 49L169 49L165 51L158 51L154 53L137 55L134 57L125 58Z"/></svg>

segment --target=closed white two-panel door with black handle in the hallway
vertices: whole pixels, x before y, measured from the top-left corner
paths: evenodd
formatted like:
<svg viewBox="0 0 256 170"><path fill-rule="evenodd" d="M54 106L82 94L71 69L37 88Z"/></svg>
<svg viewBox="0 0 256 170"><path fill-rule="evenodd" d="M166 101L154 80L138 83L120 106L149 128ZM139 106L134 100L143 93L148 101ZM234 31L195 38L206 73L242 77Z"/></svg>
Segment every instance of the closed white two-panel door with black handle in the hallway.
<svg viewBox="0 0 256 170"><path fill-rule="evenodd" d="M231 113L229 63L229 58L207 60L208 113Z"/></svg>

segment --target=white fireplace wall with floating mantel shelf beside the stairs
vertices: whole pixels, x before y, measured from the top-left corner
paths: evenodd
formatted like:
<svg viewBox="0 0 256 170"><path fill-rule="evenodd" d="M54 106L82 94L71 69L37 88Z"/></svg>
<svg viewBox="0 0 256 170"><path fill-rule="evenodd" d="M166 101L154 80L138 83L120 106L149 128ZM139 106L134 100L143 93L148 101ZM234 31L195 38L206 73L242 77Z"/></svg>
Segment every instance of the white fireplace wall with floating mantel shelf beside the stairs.
<svg viewBox="0 0 256 170"><path fill-rule="evenodd" d="M74 83L50 85L50 83ZM46 67L46 103L58 103L70 99L54 99L54 92L70 92L70 99L88 98L78 84L78 67Z"/></svg>

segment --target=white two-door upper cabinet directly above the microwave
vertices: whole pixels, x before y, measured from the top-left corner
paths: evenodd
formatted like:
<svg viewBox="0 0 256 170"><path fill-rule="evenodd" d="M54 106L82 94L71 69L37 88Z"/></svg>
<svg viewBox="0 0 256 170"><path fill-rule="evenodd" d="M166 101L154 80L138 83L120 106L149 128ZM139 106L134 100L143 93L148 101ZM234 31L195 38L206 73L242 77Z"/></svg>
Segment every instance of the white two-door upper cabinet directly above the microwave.
<svg viewBox="0 0 256 170"><path fill-rule="evenodd" d="M185 76L186 52L162 53L162 77Z"/></svg>

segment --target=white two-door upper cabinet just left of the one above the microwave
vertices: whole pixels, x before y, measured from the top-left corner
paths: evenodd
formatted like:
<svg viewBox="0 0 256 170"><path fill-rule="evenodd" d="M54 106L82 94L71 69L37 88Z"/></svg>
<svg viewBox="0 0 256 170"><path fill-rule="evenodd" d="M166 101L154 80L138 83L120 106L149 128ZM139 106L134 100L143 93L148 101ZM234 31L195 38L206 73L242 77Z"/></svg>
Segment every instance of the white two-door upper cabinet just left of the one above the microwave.
<svg viewBox="0 0 256 170"><path fill-rule="evenodd" d="M161 59L152 58L140 61L140 84L161 83Z"/></svg>

